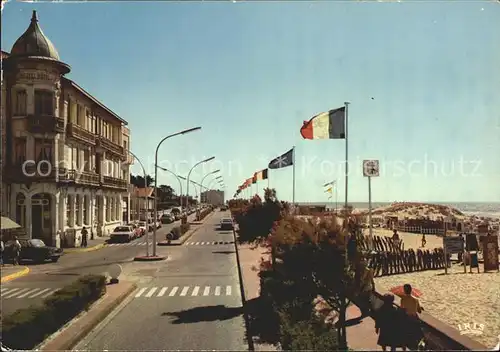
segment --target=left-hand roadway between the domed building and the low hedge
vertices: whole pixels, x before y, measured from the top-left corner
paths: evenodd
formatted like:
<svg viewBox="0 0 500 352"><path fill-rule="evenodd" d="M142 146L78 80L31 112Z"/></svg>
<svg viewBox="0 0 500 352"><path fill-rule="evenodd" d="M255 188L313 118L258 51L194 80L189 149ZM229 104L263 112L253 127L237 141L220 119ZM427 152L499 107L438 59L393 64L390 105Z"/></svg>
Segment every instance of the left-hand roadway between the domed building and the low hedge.
<svg viewBox="0 0 500 352"><path fill-rule="evenodd" d="M163 224L157 230L157 240L164 240L170 229L178 225L178 221ZM152 253L153 233L148 236ZM146 254L146 248L146 236L143 236L130 243L107 245L96 251L66 253L57 263L28 265L30 274L2 284L2 314L8 315L19 308L38 304L79 276L103 274L111 264L124 265L133 262L135 256Z"/></svg>

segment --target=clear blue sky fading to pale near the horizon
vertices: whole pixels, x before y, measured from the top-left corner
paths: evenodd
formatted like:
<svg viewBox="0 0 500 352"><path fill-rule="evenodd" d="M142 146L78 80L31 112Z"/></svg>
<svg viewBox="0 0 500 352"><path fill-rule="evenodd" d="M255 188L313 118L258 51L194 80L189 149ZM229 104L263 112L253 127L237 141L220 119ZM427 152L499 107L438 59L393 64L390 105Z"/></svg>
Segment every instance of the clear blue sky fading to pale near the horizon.
<svg viewBox="0 0 500 352"><path fill-rule="evenodd" d="M327 201L332 180L343 201L345 140L300 127L347 101L350 202L368 200L368 159L376 202L500 201L498 2L9 2L2 50L32 10L68 78L129 122L148 173L163 137L201 126L166 140L158 164L186 176L215 156L191 179L220 169L230 198L295 146L295 201ZM278 198L292 200L293 174L270 170Z"/></svg>

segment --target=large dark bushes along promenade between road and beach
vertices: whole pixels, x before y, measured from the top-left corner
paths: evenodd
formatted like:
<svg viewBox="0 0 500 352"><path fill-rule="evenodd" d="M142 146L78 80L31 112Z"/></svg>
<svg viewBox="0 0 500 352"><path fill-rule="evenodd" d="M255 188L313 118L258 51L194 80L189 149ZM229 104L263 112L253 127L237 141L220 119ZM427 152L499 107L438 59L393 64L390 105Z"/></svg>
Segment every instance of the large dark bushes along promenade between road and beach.
<svg viewBox="0 0 500 352"><path fill-rule="evenodd" d="M356 245L358 220L350 214L343 225L334 216L301 220L272 189L264 201L255 196L229 206L239 241L271 253L260 265L260 297L246 306L252 336L284 350L347 350L345 310L361 297L367 270Z"/></svg>

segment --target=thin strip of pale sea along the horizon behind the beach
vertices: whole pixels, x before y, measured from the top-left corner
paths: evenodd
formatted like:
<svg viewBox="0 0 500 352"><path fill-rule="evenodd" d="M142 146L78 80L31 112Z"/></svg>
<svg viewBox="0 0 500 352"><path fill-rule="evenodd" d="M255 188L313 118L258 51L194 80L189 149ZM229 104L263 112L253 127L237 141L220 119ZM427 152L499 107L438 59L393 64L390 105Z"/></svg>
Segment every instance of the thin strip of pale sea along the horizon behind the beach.
<svg viewBox="0 0 500 352"><path fill-rule="evenodd" d="M372 209L391 205L393 202L372 202ZM427 204L448 205L456 208L467 215L477 215L484 217L500 218L500 202L422 202ZM315 203L315 202L300 202L300 205L308 206L325 206L328 209L335 209L335 203ZM339 201L339 207L342 202ZM356 209L368 209L368 202L349 202Z"/></svg>

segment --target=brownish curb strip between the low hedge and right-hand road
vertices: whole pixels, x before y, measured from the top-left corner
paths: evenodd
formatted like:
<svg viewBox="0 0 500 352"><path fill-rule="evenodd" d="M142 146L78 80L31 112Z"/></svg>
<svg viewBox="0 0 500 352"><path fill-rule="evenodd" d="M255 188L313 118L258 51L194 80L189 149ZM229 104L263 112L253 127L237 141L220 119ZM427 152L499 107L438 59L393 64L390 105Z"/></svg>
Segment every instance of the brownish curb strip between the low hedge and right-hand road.
<svg viewBox="0 0 500 352"><path fill-rule="evenodd" d="M80 317L84 317L85 315L89 314L91 310L86 311L83 316L76 317L72 321L70 321L66 327L66 329L62 329L56 333L54 333L54 338L47 343L43 343L39 347L36 348L38 351L68 351L71 350L72 347L76 346L80 340L85 338L101 321L103 321L120 303L122 303L132 292L135 291L137 288L137 285L135 283L132 283L130 287L122 292L112 303L110 303L108 306L106 306L99 314L95 316L94 319L90 320L87 324L82 324L80 330L76 332L73 336L68 338L66 341L61 341L58 343L58 337L60 336L54 336L56 334L59 334L61 331L64 330L69 330L71 329L72 323L77 320ZM104 300L106 298L106 295L102 297ZM96 302L97 303L97 302ZM102 302L101 302L102 304ZM98 307L99 304L96 304L95 307ZM95 308L94 307L94 308ZM50 339L50 336L48 337Z"/></svg>

